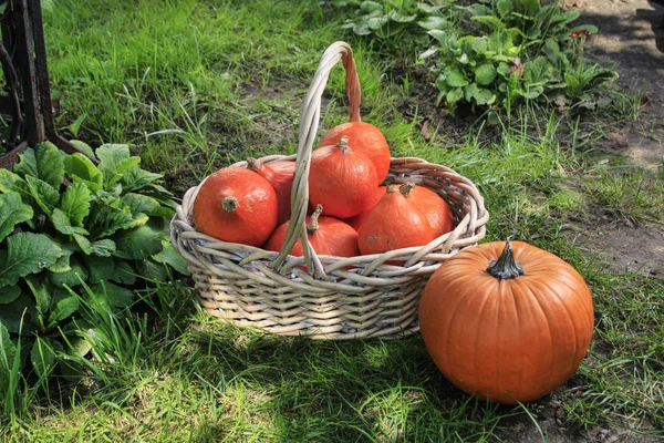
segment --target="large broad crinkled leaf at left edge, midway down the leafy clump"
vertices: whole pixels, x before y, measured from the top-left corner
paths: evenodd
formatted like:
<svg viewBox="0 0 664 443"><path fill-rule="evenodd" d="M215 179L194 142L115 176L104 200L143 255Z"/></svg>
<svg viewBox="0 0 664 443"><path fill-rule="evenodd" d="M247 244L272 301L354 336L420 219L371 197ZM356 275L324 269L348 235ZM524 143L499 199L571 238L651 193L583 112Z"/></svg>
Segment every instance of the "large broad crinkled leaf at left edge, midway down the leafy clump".
<svg viewBox="0 0 664 443"><path fill-rule="evenodd" d="M66 253L43 234L19 233L7 239L6 262L0 262L0 288L52 266ZM0 261L2 257L0 256Z"/></svg>

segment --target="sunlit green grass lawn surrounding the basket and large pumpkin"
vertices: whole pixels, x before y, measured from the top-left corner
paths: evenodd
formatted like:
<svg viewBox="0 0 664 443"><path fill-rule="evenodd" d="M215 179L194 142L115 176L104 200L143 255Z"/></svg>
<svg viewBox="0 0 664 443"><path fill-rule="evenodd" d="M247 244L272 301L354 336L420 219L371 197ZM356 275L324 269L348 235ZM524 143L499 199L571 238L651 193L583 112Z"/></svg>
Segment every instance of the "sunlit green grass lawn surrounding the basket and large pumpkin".
<svg viewBox="0 0 664 443"><path fill-rule="evenodd" d="M144 167L163 173L181 197L232 162L294 153L318 61L333 41L349 41L363 120L384 132L393 156L422 157L469 177L491 215L485 241L528 241L585 278L595 332L579 371L539 401L485 403L444 379L419 334L350 342L266 336L221 324L198 307L188 279L174 278L142 291L136 315L121 327L103 324L106 353L85 363L90 377L75 383L56 377L48 392L19 393L19 413L0 415L0 440L515 442L609 435L598 430L620 431L624 441L664 439L662 276L614 270L574 240L579 220L592 224L599 216L664 223L662 172L592 150L612 119L637 113L575 120L532 105L510 124L490 126L476 116L456 132L438 127L427 141L418 110L435 107L435 93L428 94L434 86L425 68L415 65L417 51L353 37L341 28L344 17L319 3L58 0L44 16L44 31L61 131L93 146L132 143ZM343 80L340 68L328 84L323 128L346 119ZM455 122L445 119L443 124Z"/></svg>

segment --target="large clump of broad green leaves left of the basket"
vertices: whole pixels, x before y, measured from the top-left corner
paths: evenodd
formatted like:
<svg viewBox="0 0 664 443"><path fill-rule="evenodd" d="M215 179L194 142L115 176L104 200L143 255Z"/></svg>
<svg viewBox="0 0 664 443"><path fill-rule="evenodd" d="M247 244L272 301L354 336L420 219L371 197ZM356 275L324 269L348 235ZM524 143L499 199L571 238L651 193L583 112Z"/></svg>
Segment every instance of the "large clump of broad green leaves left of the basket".
<svg viewBox="0 0 664 443"><path fill-rule="evenodd" d="M92 305L122 316L137 285L166 278L168 267L187 272L168 241L175 204L162 175L142 169L126 145L93 153L75 143L87 155L46 142L25 151L13 172L0 169L3 396L21 371L43 380L60 352L90 351L84 337L98 319Z"/></svg>

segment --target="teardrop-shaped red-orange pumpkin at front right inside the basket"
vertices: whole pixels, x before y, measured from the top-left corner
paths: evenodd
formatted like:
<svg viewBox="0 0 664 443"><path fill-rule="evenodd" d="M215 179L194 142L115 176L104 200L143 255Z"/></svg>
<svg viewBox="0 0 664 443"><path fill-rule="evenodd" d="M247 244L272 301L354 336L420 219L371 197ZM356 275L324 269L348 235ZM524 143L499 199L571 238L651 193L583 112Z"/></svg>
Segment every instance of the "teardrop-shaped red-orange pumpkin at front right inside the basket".
<svg viewBox="0 0 664 443"><path fill-rule="evenodd" d="M427 219L408 200L413 187L387 185L381 200L366 215L357 233L362 255L423 246L434 239Z"/></svg>

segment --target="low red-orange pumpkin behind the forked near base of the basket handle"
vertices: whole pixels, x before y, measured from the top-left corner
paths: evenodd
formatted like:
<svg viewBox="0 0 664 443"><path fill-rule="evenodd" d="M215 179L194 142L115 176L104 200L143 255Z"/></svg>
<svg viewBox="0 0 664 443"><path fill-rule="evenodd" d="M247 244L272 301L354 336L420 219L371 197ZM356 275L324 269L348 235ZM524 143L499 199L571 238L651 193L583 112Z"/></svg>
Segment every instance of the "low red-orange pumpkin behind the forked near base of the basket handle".
<svg viewBox="0 0 664 443"><path fill-rule="evenodd" d="M355 229L334 217L321 216L322 212L323 207L318 205L311 217L307 217L305 220L309 243L315 254L336 257L357 256L357 233ZM281 250L289 223L287 222L274 229L264 246L267 250ZM293 245L290 255L295 257L304 255L301 239L298 239Z"/></svg>

